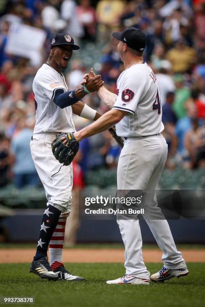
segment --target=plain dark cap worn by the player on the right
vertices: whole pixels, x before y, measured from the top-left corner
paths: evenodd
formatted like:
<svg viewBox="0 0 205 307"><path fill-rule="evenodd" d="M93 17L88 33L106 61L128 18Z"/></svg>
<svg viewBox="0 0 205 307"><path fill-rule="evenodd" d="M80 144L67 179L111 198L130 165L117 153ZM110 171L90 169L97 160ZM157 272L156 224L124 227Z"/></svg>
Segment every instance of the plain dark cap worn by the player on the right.
<svg viewBox="0 0 205 307"><path fill-rule="evenodd" d="M146 46L146 35L135 27L128 27L123 32L114 32L113 37L136 51L143 51Z"/></svg>

